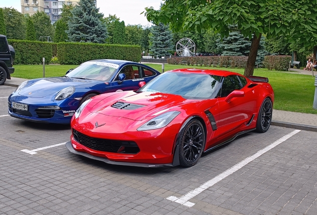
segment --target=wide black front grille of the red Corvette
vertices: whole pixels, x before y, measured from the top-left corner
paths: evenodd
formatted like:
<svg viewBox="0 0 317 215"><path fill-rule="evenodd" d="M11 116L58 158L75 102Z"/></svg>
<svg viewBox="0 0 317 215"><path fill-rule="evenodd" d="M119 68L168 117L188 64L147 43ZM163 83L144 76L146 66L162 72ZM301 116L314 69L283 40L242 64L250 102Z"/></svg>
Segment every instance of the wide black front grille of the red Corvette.
<svg viewBox="0 0 317 215"><path fill-rule="evenodd" d="M83 133L72 129L74 139L80 144L104 152L115 152L124 154L137 154L140 149L134 141L122 141L122 140L109 140L89 137Z"/></svg>

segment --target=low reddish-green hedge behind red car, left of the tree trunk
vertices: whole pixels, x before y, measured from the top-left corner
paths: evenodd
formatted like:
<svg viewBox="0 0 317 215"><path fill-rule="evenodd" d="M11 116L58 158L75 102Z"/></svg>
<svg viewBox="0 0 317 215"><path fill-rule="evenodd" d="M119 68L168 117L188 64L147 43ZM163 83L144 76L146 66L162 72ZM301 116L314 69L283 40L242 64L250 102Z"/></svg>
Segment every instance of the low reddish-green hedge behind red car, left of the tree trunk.
<svg viewBox="0 0 317 215"><path fill-rule="evenodd" d="M248 57L246 56L172 57L167 59L167 63L188 66L244 68L247 60Z"/></svg>

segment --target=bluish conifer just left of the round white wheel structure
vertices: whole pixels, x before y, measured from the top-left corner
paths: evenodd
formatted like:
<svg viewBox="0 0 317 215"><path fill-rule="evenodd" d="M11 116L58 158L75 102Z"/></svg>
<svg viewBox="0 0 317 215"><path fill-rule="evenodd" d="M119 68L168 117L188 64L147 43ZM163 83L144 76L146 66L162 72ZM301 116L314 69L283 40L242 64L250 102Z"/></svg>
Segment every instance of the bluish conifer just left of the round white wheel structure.
<svg viewBox="0 0 317 215"><path fill-rule="evenodd" d="M173 35L168 25L159 23L153 26L150 34L150 52L159 57L169 55L169 51L173 49L172 39Z"/></svg>

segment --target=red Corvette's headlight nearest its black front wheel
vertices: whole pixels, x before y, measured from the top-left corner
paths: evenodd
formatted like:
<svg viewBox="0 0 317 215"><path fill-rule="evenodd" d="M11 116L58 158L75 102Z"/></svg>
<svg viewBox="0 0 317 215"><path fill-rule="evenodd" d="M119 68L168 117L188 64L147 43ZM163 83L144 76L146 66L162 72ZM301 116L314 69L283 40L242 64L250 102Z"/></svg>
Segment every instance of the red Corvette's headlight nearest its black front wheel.
<svg viewBox="0 0 317 215"><path fill-rule="evenodd" d="M142 131L142 130L153 130L153 129L162 128L168 125L168 123L171 122L171 120L173 120L179 113L180 113L179 111L169 111L169 112L160 114L159 116L154 117L153 119L147 121L137 130Z"/></svg>

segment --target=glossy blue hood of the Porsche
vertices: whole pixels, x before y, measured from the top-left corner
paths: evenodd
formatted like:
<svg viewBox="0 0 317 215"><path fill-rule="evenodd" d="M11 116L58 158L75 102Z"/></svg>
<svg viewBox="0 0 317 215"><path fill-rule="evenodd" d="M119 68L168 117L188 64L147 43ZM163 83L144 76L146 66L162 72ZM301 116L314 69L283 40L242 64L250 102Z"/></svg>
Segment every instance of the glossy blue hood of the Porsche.
<svg viewBox="0 0 317 215"><path fill-rule="evenodd" d="M91 80L72 79L67 77L54 77L39 79L18 92L21 96L31 98L41 98L49 95L54 95L60 90L70 87L92 83Z"/></svg>

